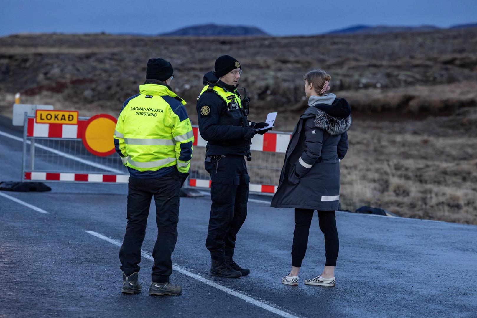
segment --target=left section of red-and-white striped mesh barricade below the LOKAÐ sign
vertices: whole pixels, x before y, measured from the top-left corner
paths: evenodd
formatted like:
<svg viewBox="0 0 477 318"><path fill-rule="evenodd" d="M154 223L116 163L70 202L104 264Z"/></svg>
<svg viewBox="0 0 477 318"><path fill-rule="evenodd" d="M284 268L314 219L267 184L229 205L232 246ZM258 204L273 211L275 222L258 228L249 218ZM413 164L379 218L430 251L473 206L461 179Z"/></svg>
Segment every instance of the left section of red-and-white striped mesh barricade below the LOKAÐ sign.
<svg viewBox="0 0 477 318"><path fill-rule="evenodd" d="M127 184L129 173L115 152L98 156L83 144L84 131L94 117L63 124L37 123L35 116L26 116L21 180Z"/></svg>

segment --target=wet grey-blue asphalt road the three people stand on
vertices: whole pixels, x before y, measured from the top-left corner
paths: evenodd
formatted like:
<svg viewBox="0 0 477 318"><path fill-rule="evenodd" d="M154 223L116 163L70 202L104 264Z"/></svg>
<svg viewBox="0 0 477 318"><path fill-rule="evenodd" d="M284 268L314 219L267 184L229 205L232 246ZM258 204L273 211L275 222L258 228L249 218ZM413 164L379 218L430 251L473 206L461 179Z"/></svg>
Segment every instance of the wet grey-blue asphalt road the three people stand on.
<svg viewBox="0 0 477 318"><path fill-rule="evenodd" d="M21 136L8 127L0 132ZM0 160L0 181L18 180L21 142L0 134ZM51 192L0 192L0 318L477 317L477 226L337 212L337 286L292 287L281 284L290 269L291 209L249 202L235 258L251 274L217 278L209 275L205 247L210 197L181 198L171 282L183 295L147 294L156 238L152 204L139 273L143 293L126 296L117 245L127 187L48 185ZM317 221L301 279L324 265Z"/></svg>

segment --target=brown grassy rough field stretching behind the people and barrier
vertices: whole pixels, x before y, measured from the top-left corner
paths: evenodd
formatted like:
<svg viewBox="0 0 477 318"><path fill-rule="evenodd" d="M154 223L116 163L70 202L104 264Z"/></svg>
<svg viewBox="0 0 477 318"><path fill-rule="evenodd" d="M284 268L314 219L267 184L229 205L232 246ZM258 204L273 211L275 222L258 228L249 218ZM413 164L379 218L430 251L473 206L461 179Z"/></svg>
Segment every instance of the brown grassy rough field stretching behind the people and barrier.
<svg viewBox="0 0 477 318"><path fill-rule="evenodd" d="M252 120L279 112L289 131L306 107L303 74L323 68L349 100L353 127L342 161L342 207L477 224L477 29L379 35L164 38L19 35L0 38L0 113L23 103L80 115L117 115L137 93L145 62L172 62L194 123L202 76L221 54L243 65Z"/></svg>

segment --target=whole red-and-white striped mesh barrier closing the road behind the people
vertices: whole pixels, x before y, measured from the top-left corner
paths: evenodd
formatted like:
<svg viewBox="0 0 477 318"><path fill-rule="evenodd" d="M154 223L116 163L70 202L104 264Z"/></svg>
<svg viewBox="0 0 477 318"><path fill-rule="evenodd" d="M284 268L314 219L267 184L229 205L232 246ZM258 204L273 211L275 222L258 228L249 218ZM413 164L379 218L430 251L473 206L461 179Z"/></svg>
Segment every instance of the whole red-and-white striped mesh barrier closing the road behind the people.
<svg viewBox="0 0 477 318"><path fill-rule="evenodd" d="M78 117L76 124L62 124L37 123L35 116L25 116L22 181L127 184L129 174L119 155L99 156L84 143L86 126L94 117ZM193 132L194 153L186 186L208 188L210 178L204 168L207 142L197 126L193 126ZM252 161L247 163L251 192L277 190L289 141L290 133L268 132L253 137Z"/></svg>

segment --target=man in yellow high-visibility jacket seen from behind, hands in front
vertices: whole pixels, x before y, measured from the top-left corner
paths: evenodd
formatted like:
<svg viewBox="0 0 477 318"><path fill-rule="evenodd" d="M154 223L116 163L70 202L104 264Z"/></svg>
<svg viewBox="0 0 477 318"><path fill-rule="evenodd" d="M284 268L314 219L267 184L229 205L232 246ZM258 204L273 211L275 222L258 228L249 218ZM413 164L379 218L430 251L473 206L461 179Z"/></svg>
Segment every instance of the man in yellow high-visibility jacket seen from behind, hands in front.
<svg viewBox="0 0 477 318"><path fill-rule="evenodd" d="M156 202L157 240L151 295L179 295L182 288L169 283L171 254L177 241L179 191L187 178L194 134L184 105L174 93L171 63L147 62L146 81L139 94L127 99L116 124L114 144L129 170L127 226L119 251L122 292L141 291L137 282L151 198Z"/></svg>

